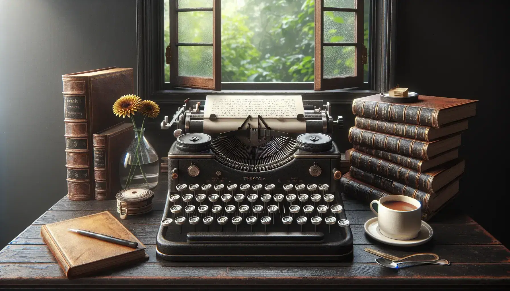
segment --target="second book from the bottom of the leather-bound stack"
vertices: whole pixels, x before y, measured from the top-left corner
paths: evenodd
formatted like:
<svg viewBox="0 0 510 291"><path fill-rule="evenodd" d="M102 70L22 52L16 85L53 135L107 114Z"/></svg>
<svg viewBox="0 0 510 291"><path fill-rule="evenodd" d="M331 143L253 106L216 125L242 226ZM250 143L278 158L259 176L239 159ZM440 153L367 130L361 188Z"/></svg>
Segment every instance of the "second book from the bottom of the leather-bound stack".
<svg viewBox="0 0 510 291"><path fill-rule="evenodd" d="M416 188L412 188L410 186L407 186L405 184L395 182L393 180L383 178L380 176L377 176L375 174L372 174L367 171L360 170L358 168L350 167L349 174L351 177L358 179L362 182L368 183L372 186L375 186L379 189L382 189L388 193L395 194L395 195L405 195L409 197L413 197L415 199L420 200L420 197L425 197L426 195L430 196L430 198L435 199L439 195L443 195L446 193L446 195L453 195L458 192L459 187L459 179L456 178L455 180L448 183L443 188L439 189L435 193L427 193L425 191L418 190Z"/></svg>

